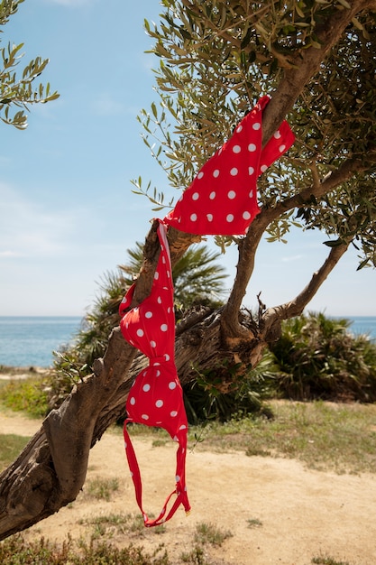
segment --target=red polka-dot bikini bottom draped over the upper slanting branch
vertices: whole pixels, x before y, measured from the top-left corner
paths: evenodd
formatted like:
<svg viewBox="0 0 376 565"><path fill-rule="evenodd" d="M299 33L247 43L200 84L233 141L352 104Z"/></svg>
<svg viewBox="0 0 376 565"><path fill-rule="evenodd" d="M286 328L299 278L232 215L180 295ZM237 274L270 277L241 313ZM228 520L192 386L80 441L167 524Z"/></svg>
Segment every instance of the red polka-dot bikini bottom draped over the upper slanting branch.
<svg viewBox="0 0 376 565"><path fill-rule="evenodd" d="M294 143L284 121L262 148L261 97L231 138L204 164L164 222L197 235L240 236L259 213L257 177Z"/></svg>

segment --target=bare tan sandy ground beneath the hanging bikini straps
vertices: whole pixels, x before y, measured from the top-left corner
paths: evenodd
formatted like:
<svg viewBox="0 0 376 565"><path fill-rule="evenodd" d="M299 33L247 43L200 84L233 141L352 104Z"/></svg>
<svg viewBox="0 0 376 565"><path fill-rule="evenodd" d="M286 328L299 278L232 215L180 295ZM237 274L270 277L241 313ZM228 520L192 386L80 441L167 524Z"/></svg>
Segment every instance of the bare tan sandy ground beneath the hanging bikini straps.
<svg viewBox="0 0 376 565"><path fill-rule="evenodd" d="M0 433L30 435L39 425L14 412L0 414ZM157 514L174 487L176 446L169 441L152 447L151 439L137 438L134 447L145 509ZM197 523L205 522L233 534L219 548L206 544L211 565L309 565L318 556L349 565L376 563L376 476L323 473L295 460L212 453L201 445L188 452L187 475L191 514L179 509L163 533L117 531L108 541L140 544L150 552L163 543L180 563L179 555L195 545ZM110 502L90 498L84 488L73 505L33 526L27 537L78 538L93 531L82 519L139 514L119 432L106 432L92 449L87 482L95 477L118 479Z"/></svg>

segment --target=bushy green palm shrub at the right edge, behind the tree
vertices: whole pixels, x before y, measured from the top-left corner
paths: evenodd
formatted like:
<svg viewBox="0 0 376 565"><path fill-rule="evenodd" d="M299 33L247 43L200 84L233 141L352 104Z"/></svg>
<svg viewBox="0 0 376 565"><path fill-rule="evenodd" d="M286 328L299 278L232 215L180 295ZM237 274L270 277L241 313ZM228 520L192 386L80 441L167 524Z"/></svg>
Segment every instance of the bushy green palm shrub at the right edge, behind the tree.
<svg viewBox="0 0 376 565"><path fill-rule="evenodd" d="M376 344L354 336L350 320L308 313L286 320L271 344L277 394L293 400L374 402Z"/></svg>

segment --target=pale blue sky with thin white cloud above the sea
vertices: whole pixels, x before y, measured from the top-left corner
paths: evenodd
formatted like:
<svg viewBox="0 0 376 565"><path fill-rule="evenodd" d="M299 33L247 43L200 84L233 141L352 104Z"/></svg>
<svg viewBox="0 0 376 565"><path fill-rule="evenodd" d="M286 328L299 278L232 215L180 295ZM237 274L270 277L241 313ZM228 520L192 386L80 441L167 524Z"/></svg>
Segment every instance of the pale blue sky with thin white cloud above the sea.
<svg viewBox="0 0 376 565"><path fill-rule="evenodd" d="M0 315L84 315L154 216L131 180L171 194L136 120L158 101L143 19L160 11L157 0L132 10L124 0L25 0L3 28L3 46L24 43L21 68L50 59L41 82L60 98L31 107L25 131L0 124ZM325 239L294 231L288 245L262 243L244 304L260 291L268 306L292 299L324 261ZM221 263L230 286L235 249ZM375 272L357 264L344 255L307 310L376 315Z"/></svg>

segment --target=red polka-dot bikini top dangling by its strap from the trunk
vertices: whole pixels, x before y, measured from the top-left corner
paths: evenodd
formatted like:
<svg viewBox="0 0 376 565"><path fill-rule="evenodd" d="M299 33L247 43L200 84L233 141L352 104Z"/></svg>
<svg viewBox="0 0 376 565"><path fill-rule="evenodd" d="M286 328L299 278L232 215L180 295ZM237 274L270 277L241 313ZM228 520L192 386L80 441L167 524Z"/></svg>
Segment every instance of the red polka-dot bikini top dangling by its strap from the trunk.
<svg viewBox="0 0 376 565"><path fill-rule="evenodd" d="M175 315L170 248L167 227L161 222L157 233L160 239L160 258L151 287L151 294L139 306L128 310L132 303L134 284L120 304L120 328L124 338L149 357L150 364L136 376L126 402L127 418L124 422L124 442L128 464L133 477L136 500L146 526L170 520L179 505L186 512L188 503L185 460L187 451L188 421L183 394L175 366ZM167 430L179 443L177 452L176 487L166 499L160 515L149 519L142 508L142 479L137 458L127 431L127 423L137 422ZM166 515L170 498L175 502Z"/></svg>

